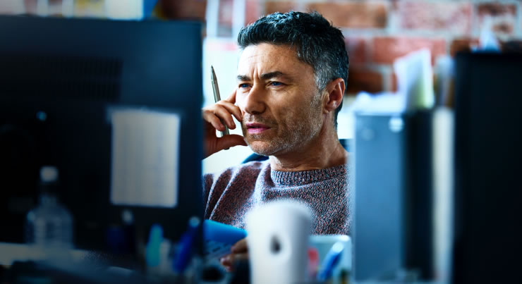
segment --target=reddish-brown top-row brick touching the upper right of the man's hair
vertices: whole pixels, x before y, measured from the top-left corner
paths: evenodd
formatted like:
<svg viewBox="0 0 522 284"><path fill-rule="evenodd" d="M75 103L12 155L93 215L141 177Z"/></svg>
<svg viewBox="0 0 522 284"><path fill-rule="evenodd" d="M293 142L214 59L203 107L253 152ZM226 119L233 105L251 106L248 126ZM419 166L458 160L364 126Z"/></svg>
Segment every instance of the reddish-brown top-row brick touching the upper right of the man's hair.
<svg viewBox="0 0 522 284"><path fill-rule="evenodd" d="M336 27L382 28L387 25L387 6L384 1L317 2L307 9L321 13Z"/></svg>

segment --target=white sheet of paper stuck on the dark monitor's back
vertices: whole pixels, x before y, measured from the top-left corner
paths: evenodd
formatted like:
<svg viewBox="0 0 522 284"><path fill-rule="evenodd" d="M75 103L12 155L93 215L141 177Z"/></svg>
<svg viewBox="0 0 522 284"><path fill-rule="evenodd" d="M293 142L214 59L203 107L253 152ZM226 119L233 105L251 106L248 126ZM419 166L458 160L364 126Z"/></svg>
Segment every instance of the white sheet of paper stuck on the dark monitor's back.
<svg viewBox="0 0 522 284"><path fill-rule="evenodd" d="M142 109L115 109L110 117L111 202L175 207L181 118Z"/></svg>

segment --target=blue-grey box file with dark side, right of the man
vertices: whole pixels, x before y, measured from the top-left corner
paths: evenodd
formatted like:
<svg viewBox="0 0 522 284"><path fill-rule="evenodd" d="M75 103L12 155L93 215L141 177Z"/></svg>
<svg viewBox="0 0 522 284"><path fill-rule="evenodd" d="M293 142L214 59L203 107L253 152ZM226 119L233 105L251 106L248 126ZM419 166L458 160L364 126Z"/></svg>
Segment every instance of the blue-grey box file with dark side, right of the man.
<svg viewBox="0 0 522 284"><path fill-rule="evenodd" d="M431 113L356 113L355 280L432 278Z"/></svg>

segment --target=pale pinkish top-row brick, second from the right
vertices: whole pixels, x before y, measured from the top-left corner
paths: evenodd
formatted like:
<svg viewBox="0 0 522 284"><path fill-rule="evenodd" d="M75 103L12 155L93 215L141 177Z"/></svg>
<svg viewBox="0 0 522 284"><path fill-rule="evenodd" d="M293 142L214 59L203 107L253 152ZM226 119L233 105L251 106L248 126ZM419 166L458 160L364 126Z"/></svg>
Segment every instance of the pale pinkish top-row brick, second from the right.
<svg viewBox="0 0 522 284"><path fill-rule="evenodd" d="M471 32L471 3L458 1L399 1L399 21L406 30Z"/></svg>

